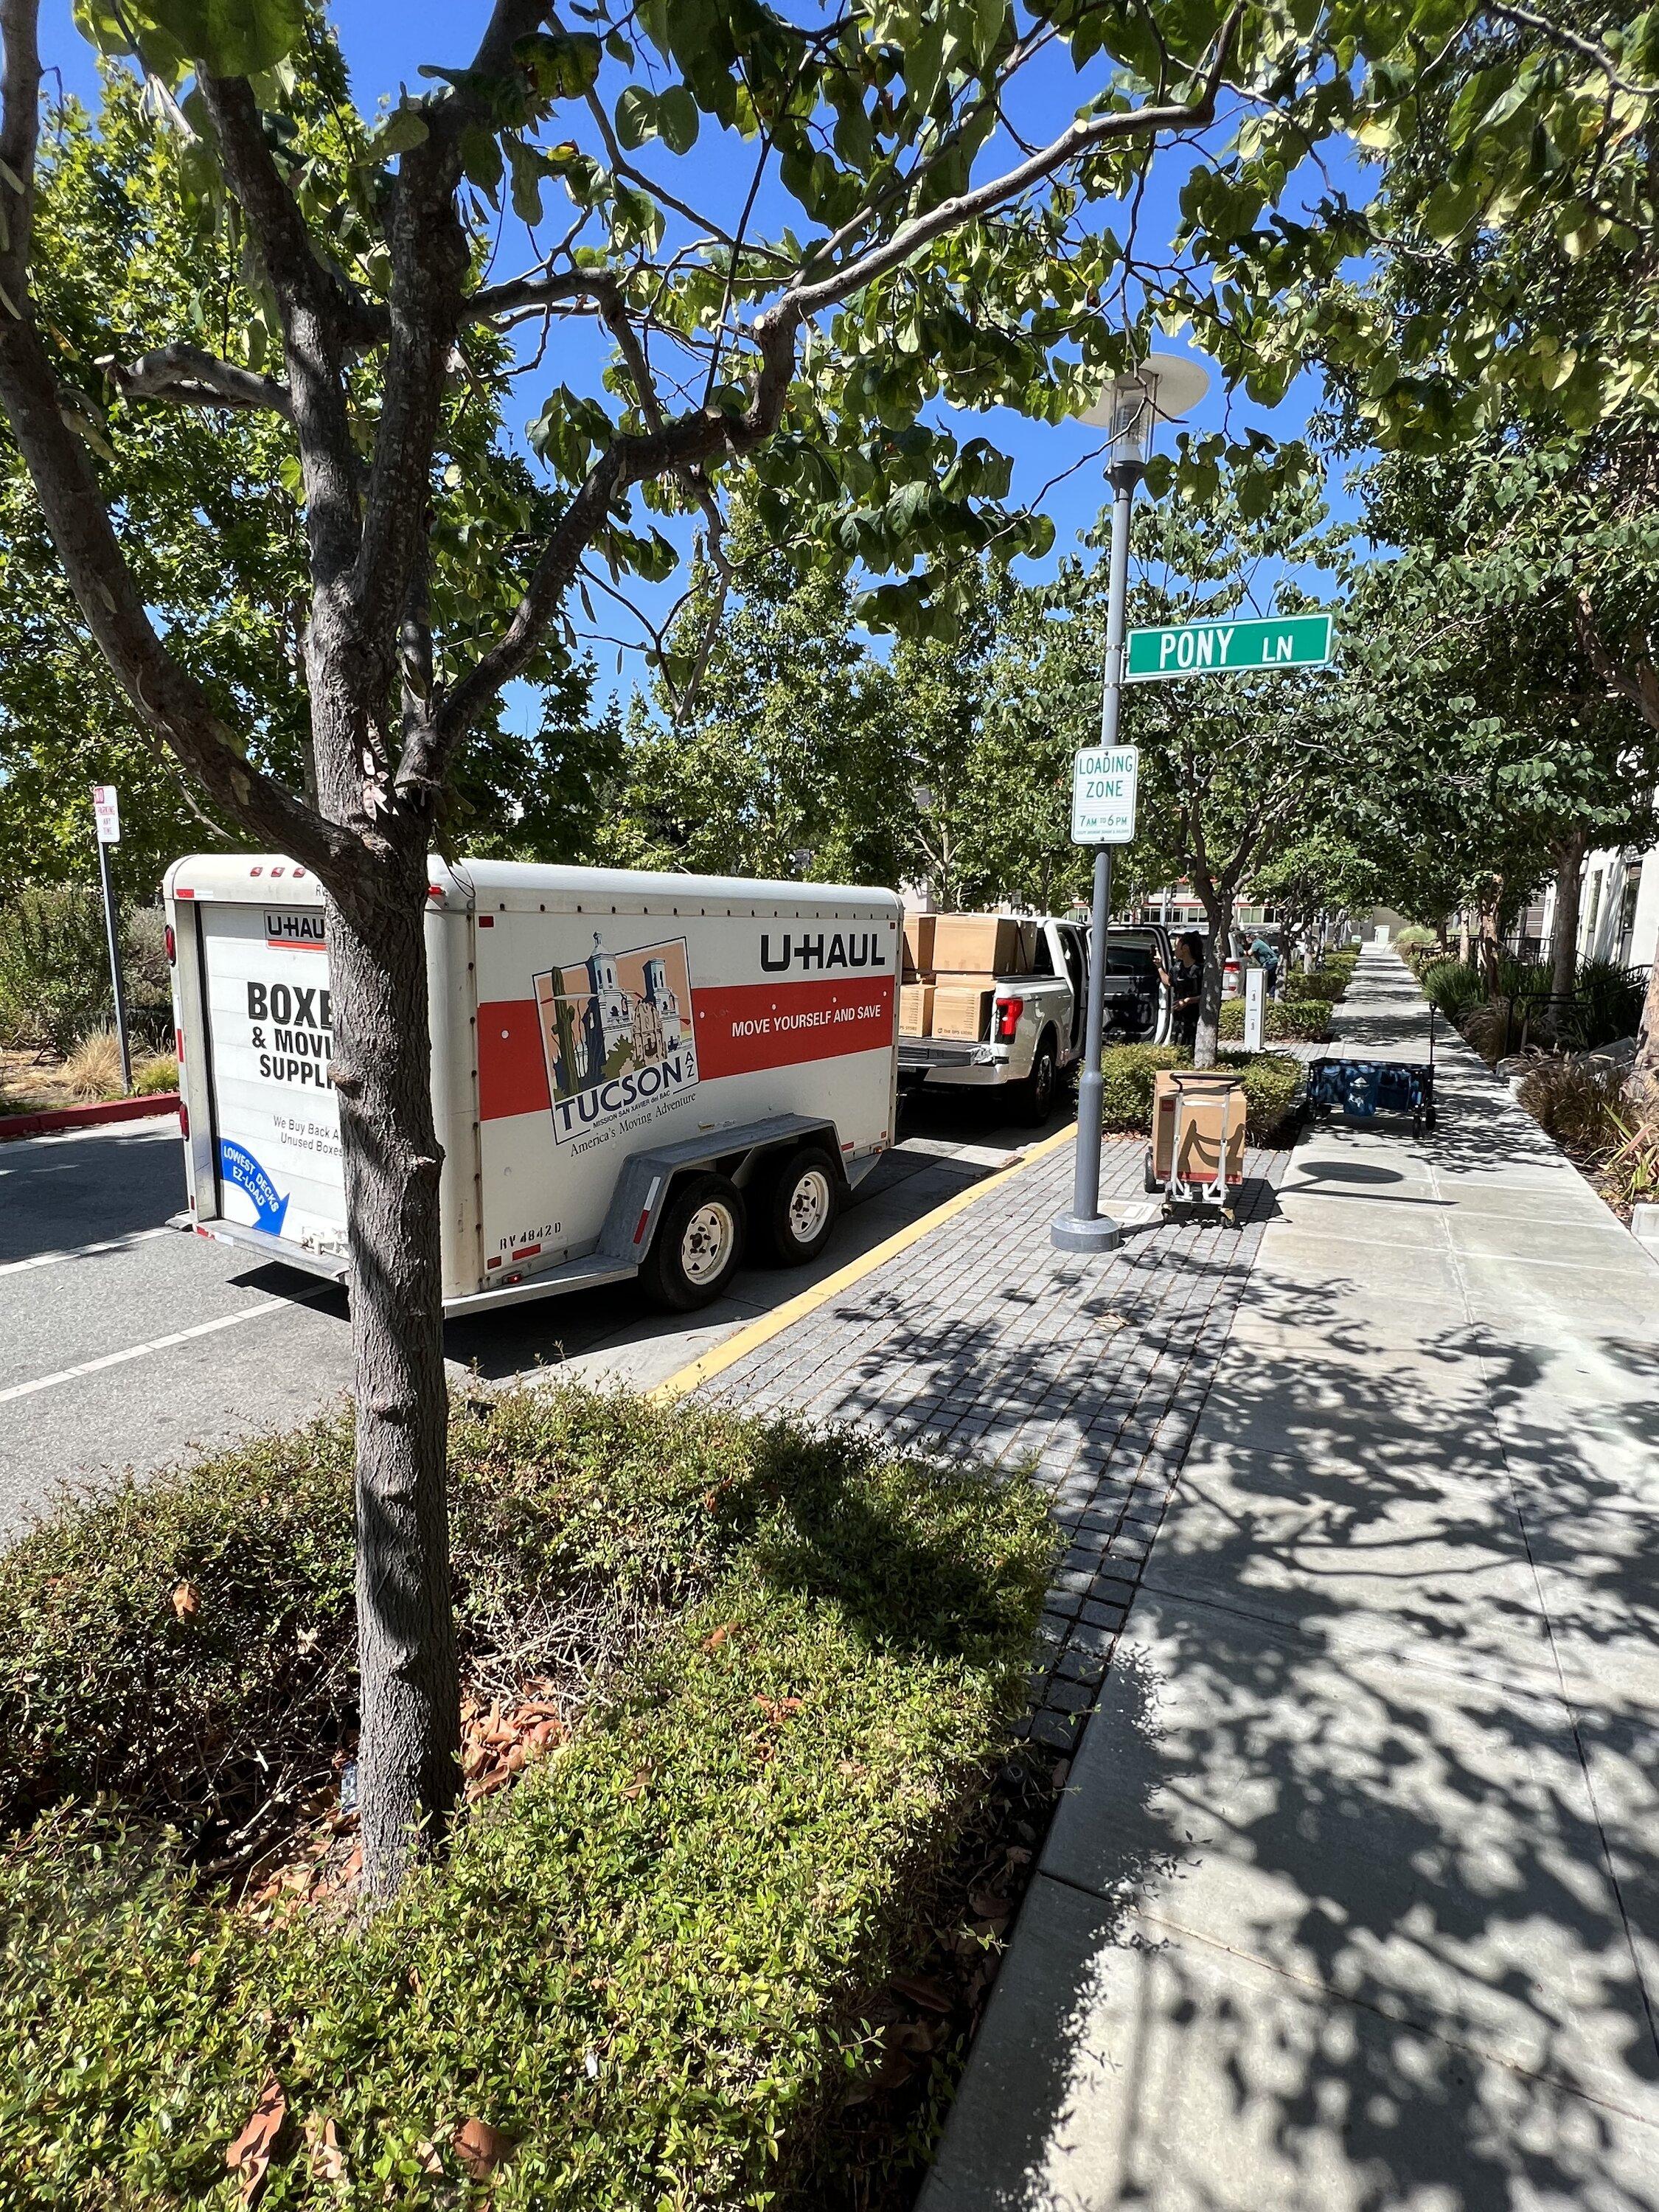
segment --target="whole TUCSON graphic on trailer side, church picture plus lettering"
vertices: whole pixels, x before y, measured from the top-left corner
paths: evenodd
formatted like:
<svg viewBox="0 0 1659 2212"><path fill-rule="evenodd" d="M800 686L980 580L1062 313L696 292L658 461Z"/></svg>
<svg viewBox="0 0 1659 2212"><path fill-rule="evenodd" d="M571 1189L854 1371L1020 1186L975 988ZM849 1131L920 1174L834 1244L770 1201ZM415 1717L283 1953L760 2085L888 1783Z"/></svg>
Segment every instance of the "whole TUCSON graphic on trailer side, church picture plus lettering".
<svg viewBox="0 0 1659 2212"><path fill-rule="evenodd" d="M613 953L595 933L580 967L535 978L535 1013L557 1144L697 1084L684 938Z"/></svg>

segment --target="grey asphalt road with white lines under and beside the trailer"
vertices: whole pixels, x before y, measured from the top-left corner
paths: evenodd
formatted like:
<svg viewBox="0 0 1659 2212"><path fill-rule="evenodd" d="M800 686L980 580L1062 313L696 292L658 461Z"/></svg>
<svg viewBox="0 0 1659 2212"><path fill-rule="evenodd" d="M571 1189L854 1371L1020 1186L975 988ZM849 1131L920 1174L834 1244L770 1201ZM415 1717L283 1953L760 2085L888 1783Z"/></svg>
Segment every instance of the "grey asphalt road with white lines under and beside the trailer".
<svg viewBox="0 0 1659 2212"><path fill-rule="evenodd" d="M914 1099L812 1267L743 1270L699 1314L630 1283L451 1323L458 1376L564 1365L648 1387L1000 1166L1040 1130L987 1099ZM1060 1126L1055 1119L1053 1126ZM106 1486L310 1418L349 1389L345 1294L170 1230L170 1119L0 1146L0 1540L64 1491Z"/></svg>

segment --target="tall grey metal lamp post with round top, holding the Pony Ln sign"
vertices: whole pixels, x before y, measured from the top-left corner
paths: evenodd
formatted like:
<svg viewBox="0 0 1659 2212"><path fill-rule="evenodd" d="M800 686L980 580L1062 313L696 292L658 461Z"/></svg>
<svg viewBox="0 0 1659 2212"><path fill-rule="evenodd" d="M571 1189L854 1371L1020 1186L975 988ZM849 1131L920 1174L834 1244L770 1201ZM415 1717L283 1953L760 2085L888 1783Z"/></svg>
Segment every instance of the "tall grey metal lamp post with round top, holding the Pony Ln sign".
<svg viewBox="0 0 1659 2212"><path fill-rule="evenodd" d="M1128 604L1128 509L1146 469L1155 425L1177 422L1210 389L1210 372L1181 354L1150 354L1130 376L1119 376L1079 420L1110 434L1106 482L1113 487L1113 544L1106 582L1106 688L1099 710L1099 743L1117 743L1124 708L1124 608ZM1088 1013L1084 1026L1084 1073L1077 1084L1077 1172L1071 1212L1060 1214L1048 1234L1060 1252L1110 1252L1121 1230L1099 1210L1099 1124L1106 1082L1099 1055L1106 1031L1106 942L1113 914L1113 847L1095 849L1095 909L1088 949Z"/></svg>

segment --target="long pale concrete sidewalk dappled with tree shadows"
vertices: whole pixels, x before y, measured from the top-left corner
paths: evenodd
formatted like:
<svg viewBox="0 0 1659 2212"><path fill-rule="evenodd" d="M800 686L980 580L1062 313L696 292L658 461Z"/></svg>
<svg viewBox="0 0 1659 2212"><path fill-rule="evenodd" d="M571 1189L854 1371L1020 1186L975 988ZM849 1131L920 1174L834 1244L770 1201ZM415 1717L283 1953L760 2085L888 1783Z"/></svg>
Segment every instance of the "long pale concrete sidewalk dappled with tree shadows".
<svg viewBox="0 0 1659 2212"><path fill-rule="evenodd" d="M1659 2205L1659 1267L1451 1040L1230 1303L922 2212Z"/></svg>

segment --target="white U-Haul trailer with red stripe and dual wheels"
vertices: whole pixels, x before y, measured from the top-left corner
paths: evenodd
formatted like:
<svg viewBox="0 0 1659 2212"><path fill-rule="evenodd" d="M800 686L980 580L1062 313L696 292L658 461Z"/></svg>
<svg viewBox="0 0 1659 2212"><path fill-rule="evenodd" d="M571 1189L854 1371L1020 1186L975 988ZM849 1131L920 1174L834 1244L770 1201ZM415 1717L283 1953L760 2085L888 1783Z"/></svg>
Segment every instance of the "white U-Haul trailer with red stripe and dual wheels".
<svg viewBox="0 0 1659 2212"><path fill-rule="evenodd" d="M166 900L197 1230L345 1279L323 889L217 854ZM812 1259L894 1141L891 891L434 860L425 936L447 1312L701 1305L745 1243Z"/></svg>

